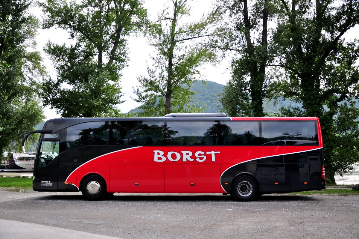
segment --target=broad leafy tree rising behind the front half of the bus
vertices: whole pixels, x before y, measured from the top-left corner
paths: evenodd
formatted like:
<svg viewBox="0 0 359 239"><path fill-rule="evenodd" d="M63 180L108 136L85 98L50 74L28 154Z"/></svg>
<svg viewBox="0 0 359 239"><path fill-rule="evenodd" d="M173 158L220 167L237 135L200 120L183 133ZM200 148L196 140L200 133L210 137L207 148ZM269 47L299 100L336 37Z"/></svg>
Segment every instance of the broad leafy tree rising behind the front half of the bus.
<svg viewBox="0 0 359 239"><path fill-rule="evenodd" d="M48 0L40 5L43 28L63 28L76 42L46 45L57 79L44 82L45 104L63 117L118 116L116 105L123 103L120 71L128 60L126 37L147 24L142 1Z"/></svg>

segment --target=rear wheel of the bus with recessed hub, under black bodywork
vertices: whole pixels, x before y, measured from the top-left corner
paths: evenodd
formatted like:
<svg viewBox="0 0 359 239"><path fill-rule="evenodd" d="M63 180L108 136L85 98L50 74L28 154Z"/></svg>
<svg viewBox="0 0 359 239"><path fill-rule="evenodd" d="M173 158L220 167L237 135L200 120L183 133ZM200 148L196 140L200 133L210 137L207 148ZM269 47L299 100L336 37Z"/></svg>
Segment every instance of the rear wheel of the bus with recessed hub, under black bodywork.
<svg viewBox="0 0 359 239"><path fill-rule="evenodd" d="M256 180L250 176L237 177L232 183L232 196L238 201L251 201L258 195Z"/></svg>

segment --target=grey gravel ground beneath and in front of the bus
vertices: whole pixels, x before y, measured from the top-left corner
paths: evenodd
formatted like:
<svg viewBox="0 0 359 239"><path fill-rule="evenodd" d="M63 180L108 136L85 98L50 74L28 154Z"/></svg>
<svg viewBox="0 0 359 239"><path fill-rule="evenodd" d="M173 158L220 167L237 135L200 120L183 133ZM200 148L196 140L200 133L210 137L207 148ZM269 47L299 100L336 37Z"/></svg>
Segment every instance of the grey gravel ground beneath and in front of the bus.
<svg viewBox="0 0 359 239"><path fill-rule="evenodd" d="M125 239L359 239L359 196L272 194L236 202L222 194L115 195L90 202L80 193L0 189L0 219Z"/></svg>

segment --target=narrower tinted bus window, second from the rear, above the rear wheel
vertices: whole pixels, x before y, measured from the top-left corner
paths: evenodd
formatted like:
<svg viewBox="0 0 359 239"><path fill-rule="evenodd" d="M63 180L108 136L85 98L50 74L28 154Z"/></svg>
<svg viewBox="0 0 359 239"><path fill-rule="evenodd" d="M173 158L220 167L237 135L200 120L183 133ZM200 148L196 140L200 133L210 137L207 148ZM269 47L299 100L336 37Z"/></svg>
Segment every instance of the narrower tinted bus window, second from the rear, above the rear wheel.
<svg viewBox="0 0 359 239"><path fill-rule="evenodd" d="M259 122L221 122L221 136L224 145L258 145L260 144Z"/></svg>

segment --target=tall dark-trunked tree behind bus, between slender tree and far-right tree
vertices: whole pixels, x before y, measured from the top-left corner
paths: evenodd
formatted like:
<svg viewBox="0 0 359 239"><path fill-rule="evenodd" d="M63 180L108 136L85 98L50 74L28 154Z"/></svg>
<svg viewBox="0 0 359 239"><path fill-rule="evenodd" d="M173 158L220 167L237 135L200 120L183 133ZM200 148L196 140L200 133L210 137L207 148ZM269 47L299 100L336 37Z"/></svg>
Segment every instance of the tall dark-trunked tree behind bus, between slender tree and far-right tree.
<svg viewBox="0 0 359 239"><path fill-rule="evenodd" d="M272 55L267 38L273 5L269 0L257 0L252 5L247 0L223 0L219 4L229 20L218 28L219 38L213 45L235 54L232 78L220 96L223 110L230 116L262 117L269 80L266 67Z"/></svg>

